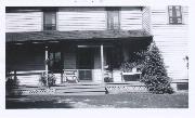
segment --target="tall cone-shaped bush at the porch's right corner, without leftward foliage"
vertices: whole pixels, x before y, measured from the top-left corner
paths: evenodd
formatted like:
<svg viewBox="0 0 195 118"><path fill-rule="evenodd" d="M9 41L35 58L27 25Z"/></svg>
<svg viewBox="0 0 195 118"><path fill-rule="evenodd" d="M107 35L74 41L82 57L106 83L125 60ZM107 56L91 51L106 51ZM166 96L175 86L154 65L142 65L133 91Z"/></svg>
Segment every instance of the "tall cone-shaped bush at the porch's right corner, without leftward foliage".
<svg viewBox="0 0 195 118"><path fill-rule="evenodd" d="M172 93L170 78L167 75L164 60L155 42L143 54L142 81L153 93Z"/></svg>

